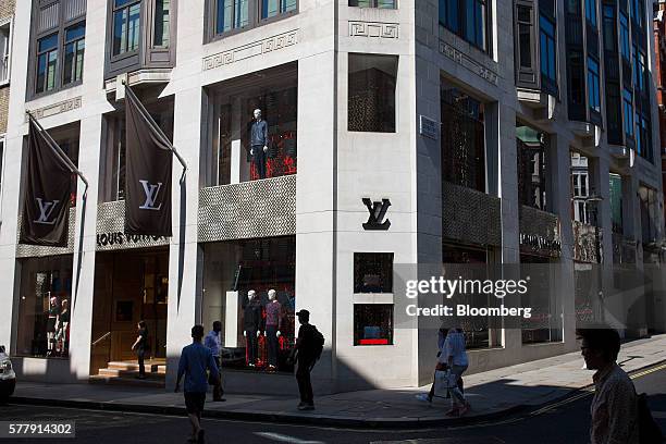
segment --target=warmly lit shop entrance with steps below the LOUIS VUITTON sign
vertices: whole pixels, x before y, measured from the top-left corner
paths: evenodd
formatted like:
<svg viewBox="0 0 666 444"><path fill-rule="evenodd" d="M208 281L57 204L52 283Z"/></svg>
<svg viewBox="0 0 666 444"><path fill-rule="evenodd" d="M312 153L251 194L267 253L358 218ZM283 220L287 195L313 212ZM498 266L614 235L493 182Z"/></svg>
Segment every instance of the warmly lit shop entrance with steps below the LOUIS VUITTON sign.
<svg viewBox="0 0 666 444"><path fill-rule="evenodd" d="M97 254L90 347L91 380L124 380L138 373L132 345L146 322L146 371L152 382L165 372L169 250Z"/></svg>

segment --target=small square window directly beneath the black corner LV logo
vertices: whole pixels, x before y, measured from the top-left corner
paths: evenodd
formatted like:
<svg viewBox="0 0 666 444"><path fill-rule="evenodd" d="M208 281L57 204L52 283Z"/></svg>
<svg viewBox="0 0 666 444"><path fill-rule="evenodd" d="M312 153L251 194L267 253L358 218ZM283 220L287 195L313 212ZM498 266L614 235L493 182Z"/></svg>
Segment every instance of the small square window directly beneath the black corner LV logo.
<svg viewBox="0 0 666 444"><path fill-rule="evenodd" d="M393 293L393 252L354 254L354 293Z"/></svg>

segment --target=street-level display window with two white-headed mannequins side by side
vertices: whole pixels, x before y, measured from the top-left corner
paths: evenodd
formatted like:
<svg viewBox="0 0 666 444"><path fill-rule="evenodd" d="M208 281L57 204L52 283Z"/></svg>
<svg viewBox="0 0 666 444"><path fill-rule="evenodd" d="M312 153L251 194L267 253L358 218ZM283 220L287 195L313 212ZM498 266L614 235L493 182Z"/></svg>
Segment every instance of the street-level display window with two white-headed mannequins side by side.
<svg viewBox="0 0 666 444"><path fill-rule="evenodd" d="M295 278L294 236L205 246L202 319L222 322L222 367L294 370Z"/></svg>

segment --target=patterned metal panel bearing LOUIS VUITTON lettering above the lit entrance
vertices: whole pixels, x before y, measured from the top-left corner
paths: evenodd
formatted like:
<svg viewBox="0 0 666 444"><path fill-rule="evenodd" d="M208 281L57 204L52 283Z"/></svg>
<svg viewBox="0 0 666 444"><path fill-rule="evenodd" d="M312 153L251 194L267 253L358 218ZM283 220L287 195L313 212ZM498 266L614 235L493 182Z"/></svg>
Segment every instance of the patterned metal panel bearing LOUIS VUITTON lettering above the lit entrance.
<svg viewBox="0 0 666 444"><path fill-rule="evenodd" d="M97 251L169 245L169 237L125 235L124 231L124 200L115 200L97 206Z"/></svg>

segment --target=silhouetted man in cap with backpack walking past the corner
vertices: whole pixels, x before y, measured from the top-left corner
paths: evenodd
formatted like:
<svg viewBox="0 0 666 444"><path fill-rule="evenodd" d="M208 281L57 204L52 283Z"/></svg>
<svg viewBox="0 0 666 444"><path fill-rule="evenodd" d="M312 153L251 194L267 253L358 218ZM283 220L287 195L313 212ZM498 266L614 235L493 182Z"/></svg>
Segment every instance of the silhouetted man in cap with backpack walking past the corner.
<svg viewBox="0 0 666 444"><path fill-rule="evenodd" d="M296 381L298 382L298 392L300 392L298 409L314 410L310 371L321 356L323 336L314 325L310 324L310 312L308 310L300 310L296 316L298 316L300 328L289 361L298 362L298 369L296 370Z"/></svg>

